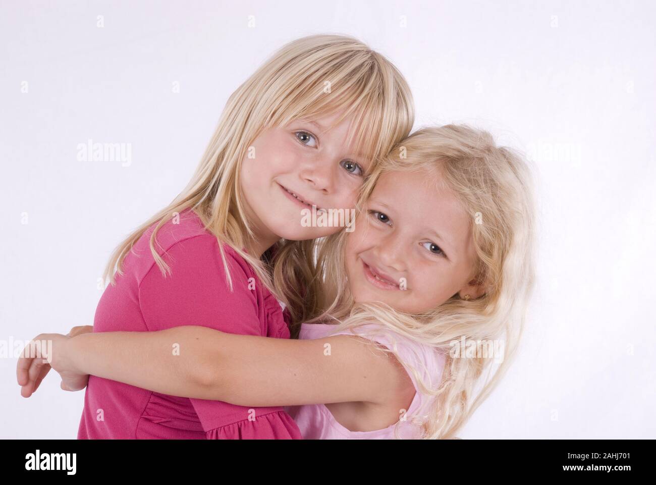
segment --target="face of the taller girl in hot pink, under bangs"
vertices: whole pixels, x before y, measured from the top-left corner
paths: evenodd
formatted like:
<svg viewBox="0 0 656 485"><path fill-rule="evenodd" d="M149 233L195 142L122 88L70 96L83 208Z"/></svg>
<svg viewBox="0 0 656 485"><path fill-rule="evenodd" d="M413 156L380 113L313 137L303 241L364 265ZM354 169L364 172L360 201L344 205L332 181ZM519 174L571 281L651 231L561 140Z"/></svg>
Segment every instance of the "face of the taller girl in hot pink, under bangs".
<svg viewBox="0 0 656 485"><path fill-rule="evenodd" d="M357 157L352 146L346 146L348 118L325 131L324 127L337 117L314 119L319 126L293 121L264 131L253 142L255 158L247 155L243 159L241 189L259 237L274 243L279 238L309 240L327 236L340 228L304 226L303 209L312 211L313 204L318 211L355 207L369 161Z"/></svg>

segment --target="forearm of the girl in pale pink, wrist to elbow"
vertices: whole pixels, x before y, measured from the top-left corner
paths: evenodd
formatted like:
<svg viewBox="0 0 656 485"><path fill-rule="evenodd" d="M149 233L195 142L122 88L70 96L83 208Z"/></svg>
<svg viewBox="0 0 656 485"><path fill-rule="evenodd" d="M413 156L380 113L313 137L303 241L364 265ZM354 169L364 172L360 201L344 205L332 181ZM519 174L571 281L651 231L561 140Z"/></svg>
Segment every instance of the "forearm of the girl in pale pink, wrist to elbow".
<svg viewBox="0 0 656 485"><path fill-rule="evenodd" d="M217 399L219 383L207 389L205 366L218 364L221 335L198 326L83 333L70 339L66 354L79 373L171 396Z"/></svg>

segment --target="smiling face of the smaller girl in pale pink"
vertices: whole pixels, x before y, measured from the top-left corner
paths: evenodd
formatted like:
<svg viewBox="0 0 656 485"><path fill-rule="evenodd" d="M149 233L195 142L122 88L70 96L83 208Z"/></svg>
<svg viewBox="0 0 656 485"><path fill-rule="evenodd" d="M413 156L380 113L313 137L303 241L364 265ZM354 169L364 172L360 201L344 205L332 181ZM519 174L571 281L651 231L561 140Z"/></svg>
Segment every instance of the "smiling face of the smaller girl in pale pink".
<svg viewBox="0 0 656 485"><path fill-rule="evenodd" d="M478 296L470 286L476 261L470 217L439 181L437 171L380 177L346 242L357 303L420 313L459 291Z"/></svg>

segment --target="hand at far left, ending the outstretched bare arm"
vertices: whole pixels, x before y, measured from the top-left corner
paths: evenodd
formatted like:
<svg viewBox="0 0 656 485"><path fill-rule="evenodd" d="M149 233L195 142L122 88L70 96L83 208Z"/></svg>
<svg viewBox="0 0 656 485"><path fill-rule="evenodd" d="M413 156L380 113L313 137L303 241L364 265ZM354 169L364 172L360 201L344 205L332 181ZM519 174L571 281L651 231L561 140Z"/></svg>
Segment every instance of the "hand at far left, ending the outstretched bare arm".
<svg viewBox="0 0 656 485"><path fill-rule="evenodd" d="M84 327L75 327L72 332L79 328ZM59 333L41 333L26 345L16 365L16 379L23 397L30 397L39 388L51 368L62 378L62 389L80 390L87 386L89 375L79 373L68 359L66 350L70 339Z"/></svg>

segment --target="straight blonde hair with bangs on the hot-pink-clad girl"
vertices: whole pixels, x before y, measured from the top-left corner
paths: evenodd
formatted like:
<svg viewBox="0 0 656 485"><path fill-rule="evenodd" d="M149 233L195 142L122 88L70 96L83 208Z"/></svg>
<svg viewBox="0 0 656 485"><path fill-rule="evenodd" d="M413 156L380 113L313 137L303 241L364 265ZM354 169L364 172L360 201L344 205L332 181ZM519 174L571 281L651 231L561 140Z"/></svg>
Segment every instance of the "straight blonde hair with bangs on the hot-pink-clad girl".
<svg viewBox="0 0 656 485"><path fill-rule="evenodd" d="M253 231L245 216L239 169L249 145L262 131L293 119L339 111L343 115L335 124L352 117L348 142L356 140L356 150L373 161L372 169L407 136L414 122L413 100L403 76L357 39L310 35L284 45L232 93L189 184L118 245L104 277L114 284L115 272L123 274L126 255L153 224L157 225L150 234L150 249L163 275L169 274L168 264L155 247L157 230L176 214L192 209L220 242L231 288L221 243L232 246L253 266L262 283L291 310L294 321L316 314L313 302L319 283L311 257L314 242L281 240L273 251L274 259L265 254L270 264L253 257L249 251Z"/></svg>

